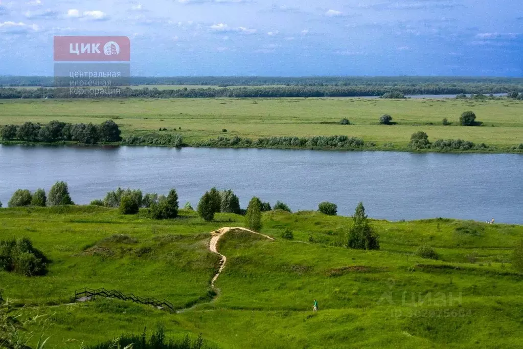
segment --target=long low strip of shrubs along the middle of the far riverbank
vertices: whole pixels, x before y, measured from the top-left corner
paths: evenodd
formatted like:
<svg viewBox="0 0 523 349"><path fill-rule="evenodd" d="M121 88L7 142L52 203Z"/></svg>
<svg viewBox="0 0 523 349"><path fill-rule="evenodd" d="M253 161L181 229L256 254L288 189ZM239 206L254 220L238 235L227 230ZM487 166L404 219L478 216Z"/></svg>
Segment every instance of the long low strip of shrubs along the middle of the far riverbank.
<svg viewBox="0 0 523 349"><path fill-rule="evenodd" d="M241 137L218 137L197 143L201 147L244 147L244 148L333 148L353 149L365 145L363 139L347 136L316 137L264 137L253 141Z"/></svg>

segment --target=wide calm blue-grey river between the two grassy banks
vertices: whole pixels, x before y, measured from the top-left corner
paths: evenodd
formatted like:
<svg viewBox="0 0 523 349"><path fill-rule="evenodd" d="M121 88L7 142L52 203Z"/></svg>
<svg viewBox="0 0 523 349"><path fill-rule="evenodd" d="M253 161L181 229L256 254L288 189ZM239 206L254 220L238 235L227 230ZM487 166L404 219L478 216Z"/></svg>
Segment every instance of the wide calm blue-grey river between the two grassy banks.
<svg viewBox="0 0 523 349"><path fill-rule="evenodd" d="M233 189L242 207L256 195L293 210L321 201L350 215L363 201L369 217L449 217L523 224L523 155L414 154L269 149L43 147L0 145L0 200L17 188L69 184L87 204L118 186L164 193L196 207L215 186Z"/></svg>

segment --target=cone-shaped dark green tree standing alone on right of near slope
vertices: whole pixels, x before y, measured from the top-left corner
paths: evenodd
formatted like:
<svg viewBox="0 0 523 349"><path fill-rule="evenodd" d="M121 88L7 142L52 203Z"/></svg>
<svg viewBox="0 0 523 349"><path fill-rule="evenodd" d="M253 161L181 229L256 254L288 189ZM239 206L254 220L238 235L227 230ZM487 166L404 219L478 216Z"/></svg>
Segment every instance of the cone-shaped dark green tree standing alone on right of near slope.
<svg viewBox="0 0 523 349"><path fill-rule="evenodd" d="M369 226L365 207L360 202L353 216L353 225L349 228L346 247L359 250L379 250L379 235Z"/></svg>

